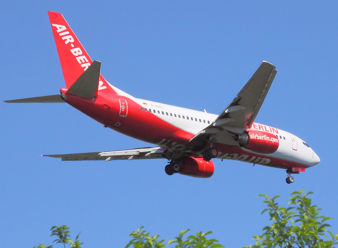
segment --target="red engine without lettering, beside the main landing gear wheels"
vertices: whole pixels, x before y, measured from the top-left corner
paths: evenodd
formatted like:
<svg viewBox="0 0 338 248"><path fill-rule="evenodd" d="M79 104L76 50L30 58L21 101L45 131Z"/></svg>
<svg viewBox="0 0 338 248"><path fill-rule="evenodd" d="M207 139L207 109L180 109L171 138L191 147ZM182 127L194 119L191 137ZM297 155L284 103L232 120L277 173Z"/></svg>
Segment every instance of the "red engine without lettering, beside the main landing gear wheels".
<svg viewBox="0 0 338 248"><path fill-rule="evenodd" d="M183 169L179 172L182 175L207 178L214 174L214 163L202 158L186 157L183 159L183 164Z"/></svg>

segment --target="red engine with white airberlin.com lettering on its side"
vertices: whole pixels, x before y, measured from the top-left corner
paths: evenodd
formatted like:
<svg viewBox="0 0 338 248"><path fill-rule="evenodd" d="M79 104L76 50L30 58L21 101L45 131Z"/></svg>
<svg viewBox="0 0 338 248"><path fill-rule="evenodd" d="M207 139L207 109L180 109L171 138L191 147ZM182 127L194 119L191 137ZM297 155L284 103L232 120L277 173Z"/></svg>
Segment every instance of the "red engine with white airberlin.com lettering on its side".
<svg viewBox="0 0 338 248"><path fill-rule="evenodd" d="M274 153L279 146L278 137L257 130L249 130L243 134L236 135L235 140L245 149L261 154Z"/></svg>

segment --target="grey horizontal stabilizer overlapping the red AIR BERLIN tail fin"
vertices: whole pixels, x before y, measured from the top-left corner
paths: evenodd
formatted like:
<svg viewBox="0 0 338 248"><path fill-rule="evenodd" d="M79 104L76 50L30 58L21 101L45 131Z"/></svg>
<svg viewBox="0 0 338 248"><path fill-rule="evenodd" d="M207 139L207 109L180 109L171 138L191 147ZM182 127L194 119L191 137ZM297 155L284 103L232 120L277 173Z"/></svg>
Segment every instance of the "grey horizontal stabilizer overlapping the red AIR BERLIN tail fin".
<svg viewBox="0 0 338 248"><path fill-rule="evenodd" d="M101 62L94 60L84 73L67 90L67 93L84 98L95 98L99 86Z"/></svg>

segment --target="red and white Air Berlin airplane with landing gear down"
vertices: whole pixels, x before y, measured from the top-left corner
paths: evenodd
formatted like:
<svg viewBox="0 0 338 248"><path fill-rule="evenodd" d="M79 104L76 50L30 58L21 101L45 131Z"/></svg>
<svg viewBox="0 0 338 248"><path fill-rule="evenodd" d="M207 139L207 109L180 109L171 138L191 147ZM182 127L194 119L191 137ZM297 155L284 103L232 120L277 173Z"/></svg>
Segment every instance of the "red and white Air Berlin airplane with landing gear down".
<svg viewBox="0 0 338 248"><path fill-rule="evenodd" d="M101 62L92 60L61 13L48 11L66 88L60 94L4 101L7 103L68 103L82 113L154 147L94 153L42 155L62 161L167 159L168 175L208 178L212 159L238 160L286 169L292 174L320 162L299 137L254 122L271 83L275 66L263 61L234 100L219 114L132 97L108 83Z"/></svg>

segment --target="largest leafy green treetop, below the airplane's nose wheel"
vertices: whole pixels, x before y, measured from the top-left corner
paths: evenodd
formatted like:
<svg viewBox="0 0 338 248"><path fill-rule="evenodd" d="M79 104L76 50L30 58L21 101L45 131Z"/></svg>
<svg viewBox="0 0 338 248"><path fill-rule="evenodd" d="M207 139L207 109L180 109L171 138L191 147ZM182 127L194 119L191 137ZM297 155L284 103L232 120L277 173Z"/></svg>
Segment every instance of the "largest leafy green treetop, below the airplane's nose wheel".
<svg viewBox="0 0 338 248"><path fill-rule="evenodd" d="M273 223L263 228L265 232L262 235L252 238L256 240L255 245L243 248L329 248L337 245L338 235L334 236L327 229L330 225L326 221L331 218L320 216L321 209L311 205L307 196L312 193L305 193L305 190L292 192L288 208L280 208L275 202L279 195L273 198L260 195L265 197L263 202L268 205L262 214L268 212Z"/></svg>

